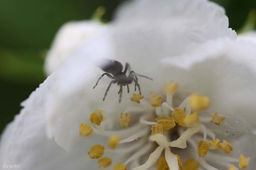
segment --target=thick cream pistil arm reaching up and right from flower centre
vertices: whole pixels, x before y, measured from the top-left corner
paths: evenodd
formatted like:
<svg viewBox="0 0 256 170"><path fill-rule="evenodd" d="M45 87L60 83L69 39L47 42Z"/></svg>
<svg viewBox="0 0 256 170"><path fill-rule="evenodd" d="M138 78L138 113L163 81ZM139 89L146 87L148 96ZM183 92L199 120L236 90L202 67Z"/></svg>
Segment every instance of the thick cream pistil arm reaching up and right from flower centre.
<svg viewBox="0 0 256 170"><path fill-rule="evenodd" d="M195 133L198 133L200 130L199 126L188 128L185 132L181 133L180 137L172 142L169 142L170 147L179 147L179 148L186 148L186 141Z"/></svg>

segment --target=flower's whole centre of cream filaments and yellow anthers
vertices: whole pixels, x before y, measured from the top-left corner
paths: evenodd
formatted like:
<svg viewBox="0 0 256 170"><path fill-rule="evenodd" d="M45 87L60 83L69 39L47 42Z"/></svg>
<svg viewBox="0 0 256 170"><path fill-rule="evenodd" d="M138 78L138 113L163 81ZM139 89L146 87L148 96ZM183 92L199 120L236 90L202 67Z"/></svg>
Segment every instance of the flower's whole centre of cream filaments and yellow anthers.
<svg viewBox="0 0 256 170"><path fill-rule="evenodd" d="M217 170L213 164L238 170L233 165L236 162L239 162L240 168L246 168L250 158L242 154L239 159L223 155L230 154L233 150L232 144L225 139L221 142L207 128L207 123L220 126L225 119L217 112L212 116L204 115L204 110L210 105L209 99L192 94L175 106L173 96L177 88L178 83L170 81L165 88L166 95L157 96L151 91L151 97L143 99L142 95L133 94L130 100L137 103L137 106L128 107L125 113L120 113L121 130L105 130L100 126L104 120L102 110L91 113L90 122L93 126L82 123L79 127L80 136L87 137L92 132L108 136L109 149L105 150L104 146L96 144L88 150L88 156L98 159L99 168L105 168L111 166L112 162L108 154L130 155L125 162L115 164L113 170L127 170L128 167L129 170L147 170L154 164L157 170L197 170L199 167ZM132 126L129 125L132 120L131 113L139 115L139 120ZM192 150L188 149L187 143ZM185 153L191 158L184 161L182 155L171 151L175 148L179 148L178 152L183 153L182 155ZM222 150L224 153L213 153L211 150ZM148 159L141 163L142 158L149 153ZM102 155L107 157L101 157Z"/></svg>

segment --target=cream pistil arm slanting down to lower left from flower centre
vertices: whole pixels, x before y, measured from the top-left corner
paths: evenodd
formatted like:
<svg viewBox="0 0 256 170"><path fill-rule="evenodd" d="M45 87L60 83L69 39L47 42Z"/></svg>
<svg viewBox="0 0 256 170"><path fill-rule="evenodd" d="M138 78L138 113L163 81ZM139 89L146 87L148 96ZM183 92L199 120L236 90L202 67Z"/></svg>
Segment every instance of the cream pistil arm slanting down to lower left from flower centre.
<svg viewBox="0 0 256 170"><path fill-rule="evenodd" d="M139 167L135 167L132 170L147 170L149 167L151 167L154 163L156 163L157 159L160 157L162 151L163 151L164 147L163 146L158 146L156 150L154 150L154 152L152 152L149 157L148 160L140 165Z"/></svg>

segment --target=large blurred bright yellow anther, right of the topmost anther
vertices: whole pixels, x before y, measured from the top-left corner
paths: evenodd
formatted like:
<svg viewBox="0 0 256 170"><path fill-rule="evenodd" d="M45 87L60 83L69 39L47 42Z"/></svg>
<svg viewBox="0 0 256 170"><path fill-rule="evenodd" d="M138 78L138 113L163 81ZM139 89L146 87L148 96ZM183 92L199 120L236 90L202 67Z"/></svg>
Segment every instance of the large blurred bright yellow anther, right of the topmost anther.
<svg viewBox="0 0 256 170"><path fill-rule="evenodd" d="M202 111L209 107L210 100L207 96L198 96L197 94L192 94L189 96L189 105L192 111Z"/></svg>

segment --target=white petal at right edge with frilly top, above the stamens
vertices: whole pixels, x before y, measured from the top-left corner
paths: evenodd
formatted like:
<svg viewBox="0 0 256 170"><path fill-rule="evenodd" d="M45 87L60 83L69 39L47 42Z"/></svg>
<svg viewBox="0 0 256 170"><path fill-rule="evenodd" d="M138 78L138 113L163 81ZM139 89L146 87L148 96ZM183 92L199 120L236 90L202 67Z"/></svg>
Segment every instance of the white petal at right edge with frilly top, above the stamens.
<svg viewBox="0 0 256 170"><path fill-rule="evenodd" d="M169 65L169 77L180 83L183 95L198 92L209 96L212 105L208 113L218 111L226 116L223 124L232 131L253 135L256 44L217 40L191 54L169 57L163 62Z"/></svg>

